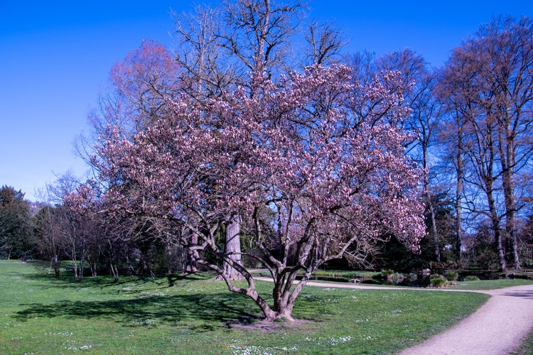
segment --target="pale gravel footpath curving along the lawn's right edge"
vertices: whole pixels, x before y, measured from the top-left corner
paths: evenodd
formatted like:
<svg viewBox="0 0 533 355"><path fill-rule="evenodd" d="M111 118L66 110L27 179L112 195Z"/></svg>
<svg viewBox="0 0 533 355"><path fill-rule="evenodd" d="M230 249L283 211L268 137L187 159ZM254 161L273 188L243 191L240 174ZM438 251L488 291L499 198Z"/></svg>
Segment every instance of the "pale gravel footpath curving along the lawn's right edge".
<svg viewBox="0 0 533 355"><path fill-rule="evenodd" d="M269 280L271 278L255 278ZM310 286L399 290L383 286L320 283ZM402 288L435 292L475 292L491 295L472 315L450 329L436 334L419 345L404 349L401 355L500 355L517 349L533 331L533 285L498 290L450 290L436 288Z"/></svg>

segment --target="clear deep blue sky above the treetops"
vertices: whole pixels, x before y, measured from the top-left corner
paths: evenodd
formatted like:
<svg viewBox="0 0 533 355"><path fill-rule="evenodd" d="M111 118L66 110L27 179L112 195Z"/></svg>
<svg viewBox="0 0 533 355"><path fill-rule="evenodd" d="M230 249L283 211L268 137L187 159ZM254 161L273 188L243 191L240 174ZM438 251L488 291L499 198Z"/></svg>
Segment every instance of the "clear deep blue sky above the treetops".
<svg viewBox="0 0 533 355"><path fill-rule="evenodd" d="M73 141L90 130L87 114L111 66L143 39L171 47L170 9L181 13L202 2L0 0L0 186L35 200L35 190L55 175L85 176ZM530 0L309 4L311 17L343 29L348 52L409 47L437 67L492 16L533 17Z"/></svg>

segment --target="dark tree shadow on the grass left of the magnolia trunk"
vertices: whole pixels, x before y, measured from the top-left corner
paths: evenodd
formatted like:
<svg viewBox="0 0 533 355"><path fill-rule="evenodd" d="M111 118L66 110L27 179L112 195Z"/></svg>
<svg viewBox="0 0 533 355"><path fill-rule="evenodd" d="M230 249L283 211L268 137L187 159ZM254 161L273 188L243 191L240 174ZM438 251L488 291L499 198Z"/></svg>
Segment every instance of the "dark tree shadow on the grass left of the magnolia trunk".
<svg viewBox="0 0 533 355"><path fill-rule="evenodd" d="M178 322L196 332L228 328L236 319L256 319L245 310L245 304L227 293L209 295L146 296L134 300L70 301L51 305L31 303L13 317L25 322L35 317L85 318L117 322L126 327L155 327Z"/></svg>

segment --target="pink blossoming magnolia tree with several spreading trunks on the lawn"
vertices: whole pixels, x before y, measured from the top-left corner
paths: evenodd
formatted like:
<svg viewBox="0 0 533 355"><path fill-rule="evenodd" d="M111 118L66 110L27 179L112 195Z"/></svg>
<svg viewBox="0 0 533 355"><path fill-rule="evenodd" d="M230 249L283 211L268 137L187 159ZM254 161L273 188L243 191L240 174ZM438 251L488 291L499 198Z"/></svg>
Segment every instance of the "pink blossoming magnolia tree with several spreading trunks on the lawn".
<svg viewBox="0 0 533 355"><path fill-rule="evenodd" d="M350 73L316 65L278 83L257 74L251 90L225 99L173 97L171 113L132 140L109 127L99 144L104 159L95 161L100 178L112 181L103 209L110 218L163 221L166 238L193 251L231 291L252 298L267 321L292 319L296 297L326 261L362 261L391 235L417 251L425 229L423 173L404 154L410 137L399 122L409 111L399 75L354 84ZM215 243L235 216L274 280L272 305ZM206 249L247 286L201 258Z"/></svg>

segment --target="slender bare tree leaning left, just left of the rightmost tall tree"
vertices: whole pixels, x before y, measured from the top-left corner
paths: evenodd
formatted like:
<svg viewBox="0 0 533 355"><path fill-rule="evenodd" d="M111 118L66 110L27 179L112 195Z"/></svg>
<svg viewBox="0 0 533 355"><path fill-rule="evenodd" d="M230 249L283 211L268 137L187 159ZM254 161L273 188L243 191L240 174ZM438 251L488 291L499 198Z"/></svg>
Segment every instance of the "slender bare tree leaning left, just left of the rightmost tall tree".
<svg viewBox="0 0 533 355"><path fill-rule="evenodd" d="M501 231L502 216L496 204L497 171L495 151L495 122L490 116L491 87L483 79L483 59L480 60L475 43L465 43L453 51L444 68L441 84L451 93L446 99L461 115L451 118L465 148L463 179L465 186L465 206L474 215L484 215L490 219L495 244L502 270L507 268ZM460 148L457 146L457 148Z"/></svg>

